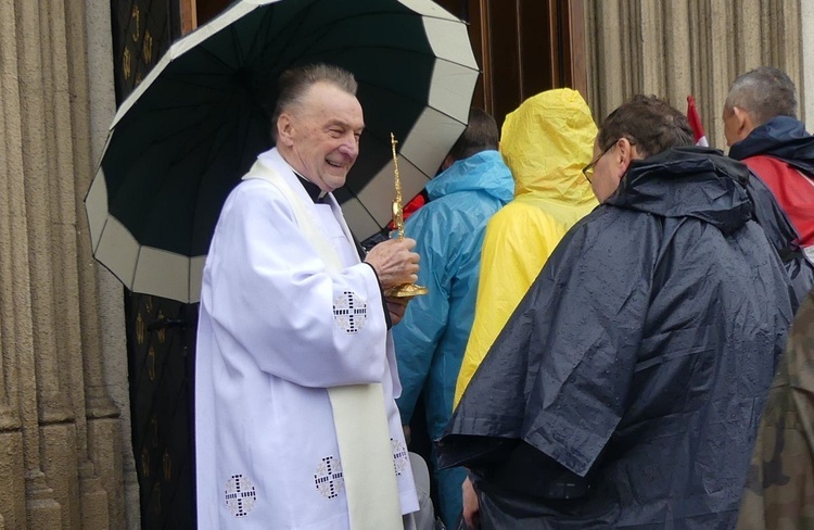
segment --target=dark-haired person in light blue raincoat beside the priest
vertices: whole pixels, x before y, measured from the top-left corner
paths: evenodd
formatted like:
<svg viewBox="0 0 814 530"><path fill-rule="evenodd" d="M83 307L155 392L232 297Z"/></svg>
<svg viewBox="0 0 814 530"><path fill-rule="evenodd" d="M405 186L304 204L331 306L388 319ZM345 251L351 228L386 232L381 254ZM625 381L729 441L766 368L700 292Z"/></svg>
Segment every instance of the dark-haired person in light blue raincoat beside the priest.
<svg viewBox="0 0 814 530"><path fill-rule="evenodd" d="M412 299L393 328L402 396L409 425L423 390L428 432L437 440L453 412L455 383L474 318L481 245L486 223L514 197L511 172L497 151L495 119L472 109L469 125L447 155L443 173L427 185L430 202L405 224L421 256ZM435 467L435 466L433 466ZM463 469L435 471L441 517L451 528L461 512Z"/></svg>

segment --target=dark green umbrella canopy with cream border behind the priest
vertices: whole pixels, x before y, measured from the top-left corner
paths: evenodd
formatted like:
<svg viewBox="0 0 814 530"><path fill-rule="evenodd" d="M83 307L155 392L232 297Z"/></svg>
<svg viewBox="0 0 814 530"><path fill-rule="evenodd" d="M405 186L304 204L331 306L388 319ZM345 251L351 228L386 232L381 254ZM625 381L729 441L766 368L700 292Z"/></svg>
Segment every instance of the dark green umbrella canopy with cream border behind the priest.
<svg viewBox="0 0 814 530"><path fill-rule="evenodd" d="M354 73L366 128L335 195L364 239L394 197L431 178L478 80L466 26L431 0L243 0L174 43L119 108L86 197L93 254L135 291L196 302L229 191L269 149L277 78L325 62Z"/></svg>

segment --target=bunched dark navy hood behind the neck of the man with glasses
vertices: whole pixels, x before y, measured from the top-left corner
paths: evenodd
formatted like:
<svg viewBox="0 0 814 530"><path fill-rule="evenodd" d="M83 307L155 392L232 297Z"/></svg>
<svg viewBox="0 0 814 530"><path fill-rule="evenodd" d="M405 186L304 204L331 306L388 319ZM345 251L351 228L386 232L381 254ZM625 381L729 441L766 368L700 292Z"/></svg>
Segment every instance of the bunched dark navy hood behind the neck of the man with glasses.
<svg viewBox="0 0 814 530"><path fill-rule="evenodd" d="M695 217L730 234L752 217L749 168L708 148L673 148L634 161L606 204L662 217Z"/></svg>

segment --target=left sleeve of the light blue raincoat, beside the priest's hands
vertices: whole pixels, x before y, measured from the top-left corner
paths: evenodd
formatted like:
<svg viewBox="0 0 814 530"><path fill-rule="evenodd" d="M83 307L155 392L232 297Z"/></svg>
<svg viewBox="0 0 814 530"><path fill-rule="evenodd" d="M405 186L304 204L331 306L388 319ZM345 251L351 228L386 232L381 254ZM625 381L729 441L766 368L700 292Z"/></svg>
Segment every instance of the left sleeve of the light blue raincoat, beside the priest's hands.
<svg viewBox="0 0 814 530"><path fill-rule="evenodd" d="M428 293L412 299L402 321L393 328L402 395L396 400L402 422L412 418L416 402L427 381L438 341L449 319L449 248L454 247L440 215L431 204L416 212L405 225L405 236L416 240L421 256L418 283Z"/></svg>

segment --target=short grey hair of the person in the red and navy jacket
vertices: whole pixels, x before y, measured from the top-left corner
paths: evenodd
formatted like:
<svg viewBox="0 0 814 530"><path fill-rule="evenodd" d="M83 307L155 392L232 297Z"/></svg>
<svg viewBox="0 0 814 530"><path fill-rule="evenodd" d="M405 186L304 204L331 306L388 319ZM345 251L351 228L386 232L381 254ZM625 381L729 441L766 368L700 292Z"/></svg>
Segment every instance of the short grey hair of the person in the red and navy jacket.
<svg viewBox="0 0 814 530"><path fill-rule="evenodd" d="M785 72L761 66L735 79L725 108L746 111L756 127L776 116L797 117L796 92L794 83Z"/></svg>

